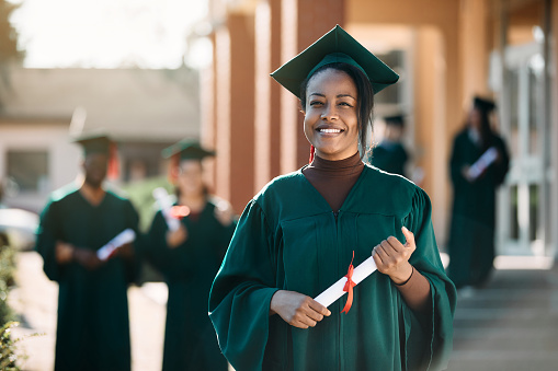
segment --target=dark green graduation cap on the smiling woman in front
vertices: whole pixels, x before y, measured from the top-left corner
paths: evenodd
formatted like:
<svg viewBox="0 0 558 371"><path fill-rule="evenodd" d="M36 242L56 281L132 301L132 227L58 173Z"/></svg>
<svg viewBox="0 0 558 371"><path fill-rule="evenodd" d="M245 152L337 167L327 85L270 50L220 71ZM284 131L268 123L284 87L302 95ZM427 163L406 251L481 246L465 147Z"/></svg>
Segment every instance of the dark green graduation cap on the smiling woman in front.
<svg viewBox="0 0 558 371"><path fill-rule="evenodd" d="M318 68L345 62L361 69L372 83L374 94L394 84L399 76L338 24L298 56L271 76L300 98L300 84Z"/></svg>

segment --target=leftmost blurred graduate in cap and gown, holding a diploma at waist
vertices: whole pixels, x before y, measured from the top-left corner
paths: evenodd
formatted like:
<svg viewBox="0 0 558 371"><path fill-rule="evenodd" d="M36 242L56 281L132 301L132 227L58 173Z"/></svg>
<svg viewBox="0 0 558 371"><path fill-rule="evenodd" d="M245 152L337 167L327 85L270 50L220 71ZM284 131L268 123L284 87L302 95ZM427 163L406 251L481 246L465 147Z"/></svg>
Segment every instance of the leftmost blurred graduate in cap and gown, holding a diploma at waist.
<svg viewBox="0 0 558 371"><path fill-rule="evenodd" d="M59 285L55 370L126 371L127 288L138 259L132 243L109 245L119 247L105 255L101 247L123 231L137 233L139 218L129 200L103 187L107 171L115 171L115 143L104 135L76 141L83 147L83 182L53 193L35 246L45 274Z"/></svg>

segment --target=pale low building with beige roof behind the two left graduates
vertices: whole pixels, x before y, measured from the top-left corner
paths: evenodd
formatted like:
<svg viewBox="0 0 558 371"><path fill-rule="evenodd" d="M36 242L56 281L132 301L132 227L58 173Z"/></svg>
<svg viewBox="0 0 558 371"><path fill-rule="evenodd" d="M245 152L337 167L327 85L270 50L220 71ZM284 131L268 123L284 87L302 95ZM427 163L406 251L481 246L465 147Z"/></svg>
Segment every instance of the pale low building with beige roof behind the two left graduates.
<svg viewBox="0 0 558 371"><path fill-rule="evenodd" d="M41 210L48 194L73 181L79 132L118 141L119 183L164 174L160 151L200 137L198 74L176 70L24 69L0 84L0 179L9 207ZM16 192L13 192L15 188Z"/></svg>

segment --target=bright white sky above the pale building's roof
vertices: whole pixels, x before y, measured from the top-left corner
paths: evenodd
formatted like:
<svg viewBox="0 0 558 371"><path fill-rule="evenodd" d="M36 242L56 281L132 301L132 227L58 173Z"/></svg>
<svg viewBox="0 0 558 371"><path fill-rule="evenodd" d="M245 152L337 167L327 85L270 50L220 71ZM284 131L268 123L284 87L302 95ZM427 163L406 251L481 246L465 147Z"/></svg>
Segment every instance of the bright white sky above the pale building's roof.
<svg viewBox="0 0 558 371"><path fill-rule="evenodd" d="M206 0L10 0L27 68L178 68Z"/></svg>

